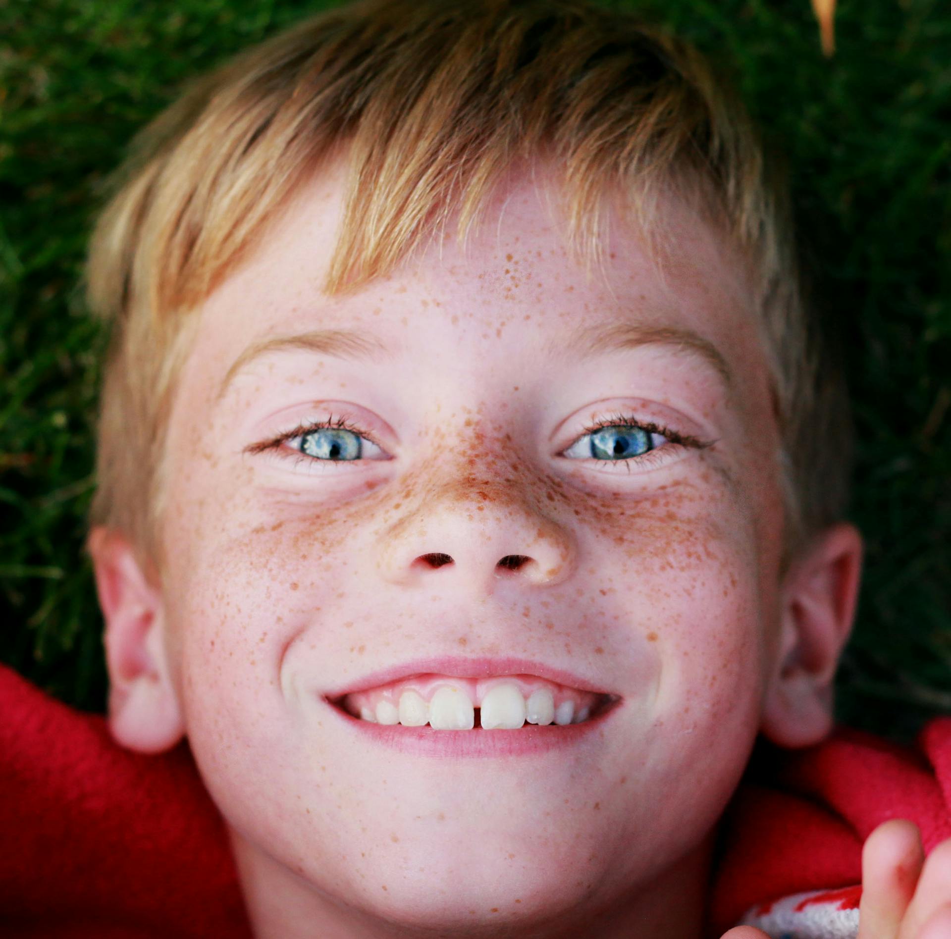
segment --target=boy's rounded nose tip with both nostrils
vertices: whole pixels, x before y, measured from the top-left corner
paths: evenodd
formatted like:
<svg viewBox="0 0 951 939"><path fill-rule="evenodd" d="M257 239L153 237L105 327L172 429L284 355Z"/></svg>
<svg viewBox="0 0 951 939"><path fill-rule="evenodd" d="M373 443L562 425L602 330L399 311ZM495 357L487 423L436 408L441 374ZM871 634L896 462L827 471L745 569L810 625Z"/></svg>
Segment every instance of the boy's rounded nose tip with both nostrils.
<svg viewBox="0 0 951 939"><path fill-rule="evenodd" d="M487 596L500 580L553 586L573 569L570 533L512 488L456 483L406 508L378 542L379 572L391 584Z"/></svg>

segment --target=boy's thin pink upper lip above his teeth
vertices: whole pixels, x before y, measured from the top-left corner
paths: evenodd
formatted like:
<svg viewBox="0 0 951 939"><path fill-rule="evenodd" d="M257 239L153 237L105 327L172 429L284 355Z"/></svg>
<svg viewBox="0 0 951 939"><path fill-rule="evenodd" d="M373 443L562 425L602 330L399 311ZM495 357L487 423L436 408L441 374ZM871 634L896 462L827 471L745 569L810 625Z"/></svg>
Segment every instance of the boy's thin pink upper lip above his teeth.
<svg viewBox="0 0 951 939"><path fill-rule="evenodd" d="M496 675L537 675L539 678L555 681L569 688L580 691L591 691L595 694L611 694L611 692L592 680L575 675L563 668L548 665L545 662L531 659L517 659L512 656L498 658L496 656L429 656L413 661L404 661L398 665L381 668L361 679L348 682L345 686L327 691L328 699L342 698L345 695L354 695L370 688L389 684L392 681L409 678L411 675L433 673L457 679L494 678Z"/></svg>

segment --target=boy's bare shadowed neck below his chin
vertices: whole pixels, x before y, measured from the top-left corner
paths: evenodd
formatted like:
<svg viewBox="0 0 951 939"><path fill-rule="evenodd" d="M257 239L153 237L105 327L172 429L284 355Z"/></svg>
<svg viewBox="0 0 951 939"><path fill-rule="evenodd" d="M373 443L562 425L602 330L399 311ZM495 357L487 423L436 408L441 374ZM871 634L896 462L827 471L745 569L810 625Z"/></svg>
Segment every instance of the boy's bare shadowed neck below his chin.
<svg viewBox="0 0 951 939"><path fill-rule="evenodd" d="M365 907L347 905L305 880L242 835L230 832L244 902L256 939L700 939L708 898L713 834L650 883L617 896L609 907L585 904L543 915L509 917L497 912L460 926L458 919L425 927L400 924Z"/></svg>

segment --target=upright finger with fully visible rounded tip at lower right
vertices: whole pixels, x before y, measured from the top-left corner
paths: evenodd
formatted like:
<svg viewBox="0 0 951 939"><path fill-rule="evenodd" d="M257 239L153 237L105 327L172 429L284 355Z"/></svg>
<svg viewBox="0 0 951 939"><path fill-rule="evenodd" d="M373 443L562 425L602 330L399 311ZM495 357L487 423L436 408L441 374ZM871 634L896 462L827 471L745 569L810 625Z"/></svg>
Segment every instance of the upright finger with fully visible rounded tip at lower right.
<svg viewBox="0 0 951 939"><path fill-rule="evenodd" d="M898 939L923 863L922 837L913 822L893 818L868 835L858 939Z"/></svg>

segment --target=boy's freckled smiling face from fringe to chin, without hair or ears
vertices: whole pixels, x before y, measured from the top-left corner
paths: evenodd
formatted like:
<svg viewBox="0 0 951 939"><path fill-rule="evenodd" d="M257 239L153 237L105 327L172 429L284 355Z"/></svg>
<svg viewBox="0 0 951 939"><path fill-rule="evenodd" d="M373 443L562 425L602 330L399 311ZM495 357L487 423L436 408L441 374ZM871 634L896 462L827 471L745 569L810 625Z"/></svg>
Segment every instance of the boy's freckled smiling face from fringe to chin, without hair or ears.
<svg viewBox="0 0 951 939"><path fill-rule="evenodd" d="M328 298L342 172L207 300L170 418L163 616L190 745L243 864L407 924L593 909L697 848L759 727L782 512L742 265L667 201L663 268L612 218L588 282L523 179L467 252ZM324 355L327 329L389 353ZM592 350L598 331L632 341ZM261 348L290 336L311 338ZM611 462L644 446L617 415L692 443ZM331 417L358 431L265 449ZM361 458L321 458L335 442ZM569 745L459 758L324 698L430 656L620 700ZM530 726L426 732L561 732Z"/></svg>

